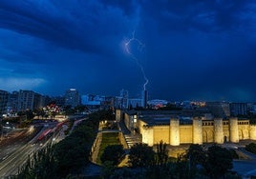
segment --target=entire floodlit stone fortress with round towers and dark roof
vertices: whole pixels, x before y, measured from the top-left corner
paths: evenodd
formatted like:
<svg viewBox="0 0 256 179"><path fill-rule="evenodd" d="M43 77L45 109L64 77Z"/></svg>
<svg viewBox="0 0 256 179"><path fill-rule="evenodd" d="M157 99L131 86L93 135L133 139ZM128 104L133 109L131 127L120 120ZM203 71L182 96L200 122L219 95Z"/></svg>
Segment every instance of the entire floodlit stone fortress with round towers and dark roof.
<svg viewBox="0 0 256 179"><path fill-rule="evenodd" d="M128 129L139 132L142 143L149 146L160 143L160 140L171 146L256 140L256 126L250 125L249 120L209 117L211 115L203 112L118 110L116 118L124 120Z"/></svg>

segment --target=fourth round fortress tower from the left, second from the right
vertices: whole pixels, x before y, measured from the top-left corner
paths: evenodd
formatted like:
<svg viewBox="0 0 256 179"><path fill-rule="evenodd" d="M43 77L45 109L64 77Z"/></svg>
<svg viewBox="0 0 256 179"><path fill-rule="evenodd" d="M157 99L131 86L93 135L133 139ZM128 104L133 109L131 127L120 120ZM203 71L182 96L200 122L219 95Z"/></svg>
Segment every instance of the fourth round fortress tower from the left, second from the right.
<svg viewBox="0 0 256 179"><path fill-rule="evenodd" d="M224 144L224 129L223 119L214 119L214 142L217 144Z"/></svg>

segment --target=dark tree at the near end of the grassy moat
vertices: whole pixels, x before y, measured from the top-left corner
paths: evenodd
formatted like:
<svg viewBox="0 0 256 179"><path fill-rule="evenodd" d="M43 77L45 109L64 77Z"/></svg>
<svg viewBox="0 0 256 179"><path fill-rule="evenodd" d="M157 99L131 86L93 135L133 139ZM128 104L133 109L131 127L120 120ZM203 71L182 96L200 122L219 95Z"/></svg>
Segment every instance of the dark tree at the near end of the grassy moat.
<svg viewBox="0 0 256 179"><path fill-rule="evenodd" d="M107 148L104 149L102 155L100 156L100 160L102 163L111 161L113 162L114 166L117 166L121 161L124 153L125 151L122 148L122 145L107 146Z"/></svg>

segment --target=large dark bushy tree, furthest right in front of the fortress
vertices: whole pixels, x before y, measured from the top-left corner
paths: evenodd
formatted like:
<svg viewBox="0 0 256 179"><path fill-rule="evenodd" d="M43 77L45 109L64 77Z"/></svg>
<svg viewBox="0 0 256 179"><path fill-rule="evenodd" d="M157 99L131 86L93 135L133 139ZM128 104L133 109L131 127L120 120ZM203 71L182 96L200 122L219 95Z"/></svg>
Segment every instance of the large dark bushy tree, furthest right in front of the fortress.
<svg viewBox="0 0 256 179"><path fill-rule="evenodd" d="M210 178L222 178L228 169L233 168L232 160L232 154L228 149L214 145L208 148L203 167Z"/></svg>

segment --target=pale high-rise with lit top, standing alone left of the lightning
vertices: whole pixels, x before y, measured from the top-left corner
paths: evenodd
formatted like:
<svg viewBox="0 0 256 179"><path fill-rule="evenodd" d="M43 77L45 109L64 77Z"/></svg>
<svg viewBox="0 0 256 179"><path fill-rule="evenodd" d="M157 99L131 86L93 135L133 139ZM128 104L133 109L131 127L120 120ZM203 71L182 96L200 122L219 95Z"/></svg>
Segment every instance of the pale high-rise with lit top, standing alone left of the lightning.
<svg viewBox="0 0 256 179"><path fill-rule="evenodd" d="M65 94L65 105L75 108L80 105L80 96L76 89L68 89Z"/></svg>

